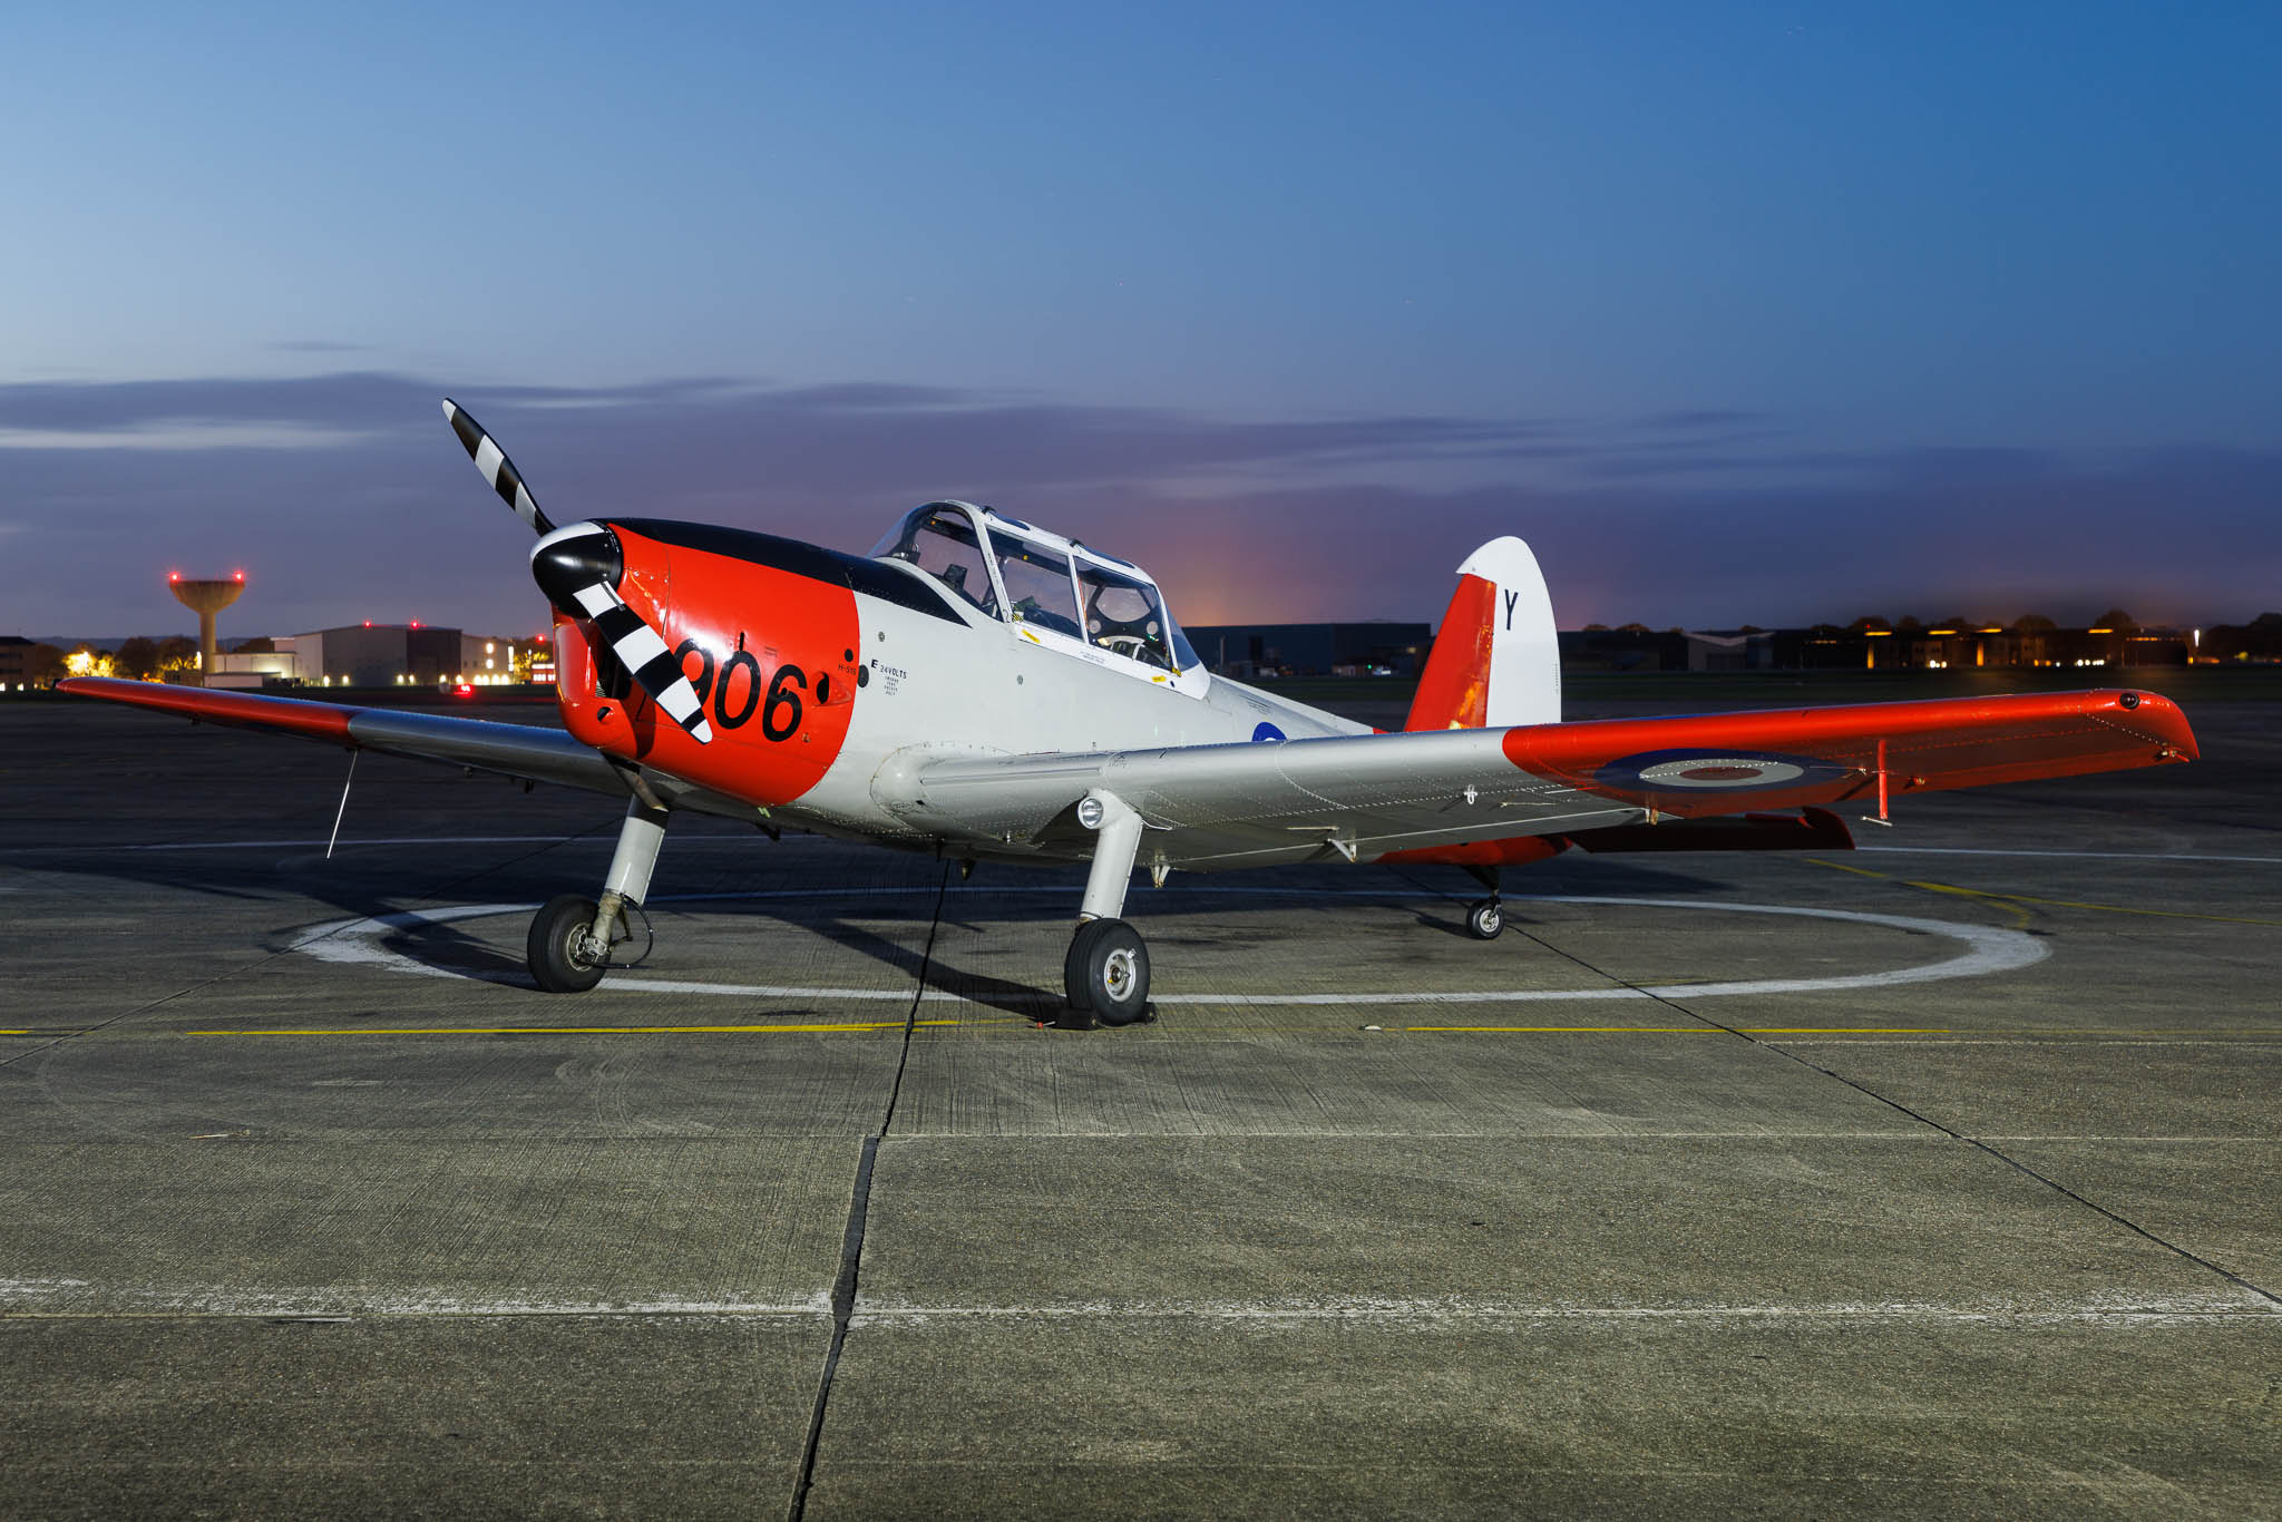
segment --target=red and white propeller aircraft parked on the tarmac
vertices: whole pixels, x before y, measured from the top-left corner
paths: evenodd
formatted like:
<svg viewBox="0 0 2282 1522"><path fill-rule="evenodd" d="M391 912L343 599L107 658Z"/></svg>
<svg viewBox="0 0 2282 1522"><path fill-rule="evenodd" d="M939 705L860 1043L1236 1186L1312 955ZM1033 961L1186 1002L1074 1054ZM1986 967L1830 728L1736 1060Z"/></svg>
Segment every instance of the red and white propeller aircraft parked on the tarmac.
<svg viewBox="0 0 2282 1522"><path fill-rule="evenodd" d="M1123 920L1136 867L1442 863L1568 847L1848 849L1846 803L2195 758L2150 691L1561 721L1536 557L1458 566L1401 732L1214 675L1141 566L970 502L911 511L867 557L659 518L557 527L452 402L461 445L536 534L561 730L73 678L64 691L625 799L600 899L532 920L550 993L593 988L630 936L678 810L972 865L1091 863L1063 958L1063 1025L1148 1013ZM1796 810L1796 812L1787 812Z"/></svg>

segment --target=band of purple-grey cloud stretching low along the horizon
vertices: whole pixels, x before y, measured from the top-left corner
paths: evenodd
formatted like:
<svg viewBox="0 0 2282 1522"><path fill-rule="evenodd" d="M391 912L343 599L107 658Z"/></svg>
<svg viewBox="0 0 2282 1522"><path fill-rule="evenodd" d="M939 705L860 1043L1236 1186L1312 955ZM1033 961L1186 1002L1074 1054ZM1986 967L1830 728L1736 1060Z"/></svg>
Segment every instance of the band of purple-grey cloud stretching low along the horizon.
<svg viewBox="0 0 2282 1522"><path fill-rule="evenodd" d="M2282 582L2282 452L1782 447L1721 408L1230 420L908 383L456 388L388 372L0 386L9 607L171 628L169 564L246 564L240 632L543 621L452 392L557 520L680 516L860 550L958 495L1141 559L1191 623L1435 618L1476 543L1538 550L1565 625L1878 612L2248 618Z"/></svg>

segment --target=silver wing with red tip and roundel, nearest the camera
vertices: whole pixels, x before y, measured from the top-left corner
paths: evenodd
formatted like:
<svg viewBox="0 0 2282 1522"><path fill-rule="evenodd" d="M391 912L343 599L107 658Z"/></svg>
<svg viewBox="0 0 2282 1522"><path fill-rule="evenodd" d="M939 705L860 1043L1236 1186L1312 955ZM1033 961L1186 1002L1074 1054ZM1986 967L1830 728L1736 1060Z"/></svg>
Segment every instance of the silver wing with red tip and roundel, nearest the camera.
<svg viewBox="0 0 2282 1522"><path fill-rule="evenodd" d="M2184 760L2170 698L2072 691L945 760L895 805L952 840L1084 853L1075 805L1102 790L1150 826L1143 860L1212 872Z"/></svg>

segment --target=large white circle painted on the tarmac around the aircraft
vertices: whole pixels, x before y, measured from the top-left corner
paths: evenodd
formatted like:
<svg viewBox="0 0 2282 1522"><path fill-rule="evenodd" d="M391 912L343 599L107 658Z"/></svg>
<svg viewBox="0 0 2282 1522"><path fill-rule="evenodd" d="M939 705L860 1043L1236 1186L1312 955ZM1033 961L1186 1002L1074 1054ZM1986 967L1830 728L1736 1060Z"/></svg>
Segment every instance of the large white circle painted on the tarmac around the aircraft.
<svg viewBox="0 0 2282 1522"><path fill-rule="evenodd" d="M650 904L721 904L758 899L842 899L842 897L920 897L933 894L933 885L913 888L787 888L769 892L714 892L657 897ZM988 888L954 890L952 897L1018 897L1018 894L1068 897L1068 888ZM1203 888L1182 897L1280 897L1280 899L1403 899L1415 894L1328 890L1308 892L1292 888ZM1627 988L1504 988L1504 990L1392 990L1392 993L1162 993L1155 1004L1543 1004L1552 999L1721 999L1734 995L1764 993L1842 993L1853 988L1894 988L1901 983L1937 983L1956 977L1988 977L1992 972L2015 972L2045 961L2042 940L2013 929L1988 924L1956 924L1949 920L1917 920L1912 915L1871 915L1853 908L1800 908L1794 904L1723 904L1714 899L1625 899L1597 894L1508 894L1506 904L1593 904L1604 908L1689 908L1723 915L1787 915L1796 920L1837 920L1842 924L1871 924L1892 931L1940 936L1958 942L1958 954L1919 968L1885 968L1874 972L1848 972L1837 977L1775 977L1743 979L1732 983L1657 983ZM461 920L488 920L495 915L529 915L536 904L452 904L445 908L406 910L399 915L372 915L363 920L335 920L319 924L294 938L292 949L329 963L356 963L386 968L415 977L445 977L470 981L472 974L452 968L436 968L406 952L383 945L395 931L411 931L429 924L454 924ZM844 999L844 1002L911 1002L908 988L799 988L787 983L701 983L689 979L653 979L634 972L612 972L605 983L618 993L680 993L737 999ZM1038 995L1047 999L1047 995ZM963 995L929 988L924 1002L963 1004ZM1059 999L1052 999L1059 1002Z"/></svg>

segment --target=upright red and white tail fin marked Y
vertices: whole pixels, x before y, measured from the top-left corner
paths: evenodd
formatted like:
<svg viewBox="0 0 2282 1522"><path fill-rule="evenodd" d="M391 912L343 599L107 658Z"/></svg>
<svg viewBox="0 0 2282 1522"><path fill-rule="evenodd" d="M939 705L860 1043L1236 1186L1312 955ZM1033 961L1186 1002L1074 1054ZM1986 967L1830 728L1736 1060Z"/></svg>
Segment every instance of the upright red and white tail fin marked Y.
<svg viewBox="0 0 2282 1522"><path fill-rule="evenodd" d="M1492 539L1458 566L1406 730L1561 723L1561 641L1538 557Z"/></svg>

